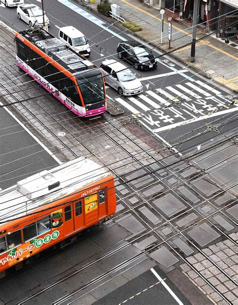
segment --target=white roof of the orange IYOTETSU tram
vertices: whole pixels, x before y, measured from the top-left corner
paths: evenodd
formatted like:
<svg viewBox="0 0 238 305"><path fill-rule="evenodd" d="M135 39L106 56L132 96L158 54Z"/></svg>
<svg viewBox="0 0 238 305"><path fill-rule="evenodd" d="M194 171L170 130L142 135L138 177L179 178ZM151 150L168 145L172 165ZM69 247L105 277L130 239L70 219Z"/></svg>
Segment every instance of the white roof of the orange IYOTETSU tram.
<svg viewBox="0 0 238 305"><path fill-rule="evenodd" d="M0 191L0 222L7 223L11 219L27 216L37 208L70 195L79 189L86 190L87 185L97 183L109 175L110 172L103 169L101 165L90 159L79 157L49 171L45 170L23 179L17 185ZM53 183L54 181L59 182L55 190L54 188L48 190L47 179ZM23 195L18 190L21 187L33 190L33 192ZM46 191L47 193L45 193ZM34 193L37 195L36 198L34 198ZM33 198L29 199L32 194ZM3 225L0 224L0 228Z"/></svg>

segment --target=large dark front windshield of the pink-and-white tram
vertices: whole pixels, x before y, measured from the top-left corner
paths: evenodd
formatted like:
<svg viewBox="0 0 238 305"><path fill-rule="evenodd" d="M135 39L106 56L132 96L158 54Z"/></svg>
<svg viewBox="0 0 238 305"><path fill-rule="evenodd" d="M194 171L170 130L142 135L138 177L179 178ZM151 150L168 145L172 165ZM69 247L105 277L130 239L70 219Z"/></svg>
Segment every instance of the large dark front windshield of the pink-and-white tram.
<svg viewBox="0 0 238 305"><path fill-rule="evenodd" d="M78 80L84 105L95 104L104 99L104 88L101 74Z"/></svg>

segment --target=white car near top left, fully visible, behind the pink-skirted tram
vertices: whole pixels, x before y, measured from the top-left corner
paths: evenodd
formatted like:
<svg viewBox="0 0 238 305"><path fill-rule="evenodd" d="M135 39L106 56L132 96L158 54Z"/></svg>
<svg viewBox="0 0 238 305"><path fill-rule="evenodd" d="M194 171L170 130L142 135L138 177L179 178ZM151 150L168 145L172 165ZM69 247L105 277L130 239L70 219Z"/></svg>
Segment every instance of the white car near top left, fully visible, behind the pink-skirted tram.
<svg viewBox="0 0 238 305"><path fill-rule="evenodd" d="M42 10L32 4L24 4L17 7L18 18L25 21L29 26L33 26L34 24L38 26L43 26L43 12ZM49 26L50 22L44 12L45 18L45 26Z"/></svg>

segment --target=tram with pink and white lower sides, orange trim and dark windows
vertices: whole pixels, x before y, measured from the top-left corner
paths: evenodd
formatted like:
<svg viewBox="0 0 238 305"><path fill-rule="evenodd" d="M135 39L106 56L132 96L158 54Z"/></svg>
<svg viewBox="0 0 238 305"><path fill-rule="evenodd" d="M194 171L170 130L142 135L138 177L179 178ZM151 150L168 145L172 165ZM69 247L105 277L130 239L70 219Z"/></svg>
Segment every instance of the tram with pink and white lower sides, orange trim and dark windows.
<svg viewBox="0 0 238 305"><path fill-rule="evenodd" d="M18 66L79 117L106 111L101 70L43 29L15 34Z"/></svg>

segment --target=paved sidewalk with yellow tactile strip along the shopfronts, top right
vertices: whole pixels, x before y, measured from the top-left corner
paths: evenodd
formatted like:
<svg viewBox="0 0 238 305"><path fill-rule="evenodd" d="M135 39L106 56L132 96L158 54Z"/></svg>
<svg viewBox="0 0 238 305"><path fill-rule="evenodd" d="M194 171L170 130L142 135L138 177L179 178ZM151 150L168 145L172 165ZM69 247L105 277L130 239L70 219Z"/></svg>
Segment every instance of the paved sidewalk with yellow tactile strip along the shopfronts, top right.
<svg viewBox="0 0 238 305"><path fill-rule="evenodd" d="M87 8L92 11L96 11L97 4L100 3L100 0L95 0L95 4L89 5L85 5L85 3L79 0L74 0L74 2L79 3L82 6L87 6ZM149 8L139 0L110 0L109 2L121 7L121 17L125 18L126 21L134 21L141 25L143 30L133 33L135 36L145 42L151 42L152 46L157 47L163 52L177 49L190 43L192 40L192 30L190 26L173 19L171 49L169 49L167 37L168 15L166 15L166 13L169 13L168 11L164 14L164 32L161 45L161 14L158 10ZM99 16L102 19L105 18L102 15ZM121 23L117 22L116 24L122 31L127 31L122 27ZM206 34L198 28L196 39L204 36L206 36ZM196 73L214 79L227 89L234 92L238 91L237 48L231 47L215 37L207 36L205 39L196 43L194 63L190 62L190 52L191 46L189 45L172 52L170 56L176 58L184 65L190 66Z"/></svg>

